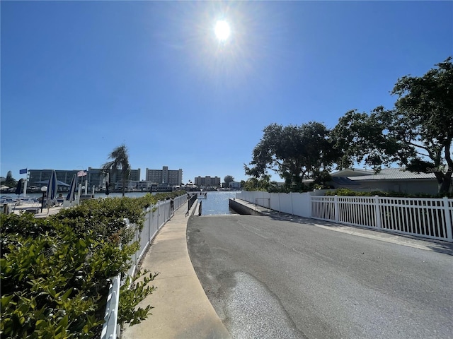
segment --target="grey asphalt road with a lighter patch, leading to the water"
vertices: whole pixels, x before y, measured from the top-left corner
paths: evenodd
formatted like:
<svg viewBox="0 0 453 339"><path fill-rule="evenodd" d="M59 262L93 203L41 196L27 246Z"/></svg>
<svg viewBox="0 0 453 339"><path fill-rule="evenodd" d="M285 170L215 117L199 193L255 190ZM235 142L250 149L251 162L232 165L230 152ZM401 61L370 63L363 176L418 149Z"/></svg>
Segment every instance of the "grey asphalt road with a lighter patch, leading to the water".
<svg viewBox="0 0 453 339"><path fill-rule="evenodd" d="M187 235L234 339L453 338L450 254L251 215L192 217Z"/></svg>

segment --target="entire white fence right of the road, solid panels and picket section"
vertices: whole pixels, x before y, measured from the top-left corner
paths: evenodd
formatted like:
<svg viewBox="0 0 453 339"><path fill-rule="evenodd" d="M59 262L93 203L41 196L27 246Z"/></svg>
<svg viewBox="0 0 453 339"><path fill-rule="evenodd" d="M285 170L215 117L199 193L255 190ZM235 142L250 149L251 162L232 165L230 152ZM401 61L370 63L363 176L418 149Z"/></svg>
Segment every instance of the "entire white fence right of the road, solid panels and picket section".
<svg viewBox="0 0 453 339"><path fill-rule="evenodd" d="M283 213L453 242L453 199L319 196L242 191L239 198Z"/></svg>

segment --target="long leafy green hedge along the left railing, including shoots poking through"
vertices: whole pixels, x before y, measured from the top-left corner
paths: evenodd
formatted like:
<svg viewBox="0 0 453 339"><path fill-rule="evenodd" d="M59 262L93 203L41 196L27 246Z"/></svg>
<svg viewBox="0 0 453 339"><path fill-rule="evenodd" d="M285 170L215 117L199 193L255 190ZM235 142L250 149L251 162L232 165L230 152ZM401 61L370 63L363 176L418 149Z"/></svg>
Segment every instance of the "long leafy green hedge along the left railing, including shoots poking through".
<svg viewBox="0 0 453 339"><path fill-rule="evenodd" d="M180 193L183 194L183 193ZM110 278L130 268L138 244L128 244L142 227L144 208L168 196L88 200L48 218L1 215L2 338L99 338ZM142 283L122 287L120 321L139 323L151 306L135 309L153 292ZM129 280L129 283L135 282Z"/></svg>

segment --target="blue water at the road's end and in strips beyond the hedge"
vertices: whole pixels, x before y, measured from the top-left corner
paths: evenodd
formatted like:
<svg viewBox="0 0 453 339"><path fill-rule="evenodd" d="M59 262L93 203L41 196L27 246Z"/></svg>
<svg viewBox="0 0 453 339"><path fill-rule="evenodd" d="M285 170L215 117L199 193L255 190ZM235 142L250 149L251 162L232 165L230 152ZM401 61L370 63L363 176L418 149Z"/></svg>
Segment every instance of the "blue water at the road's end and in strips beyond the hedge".
<svg viewBox="0 0 453 339"><path fill-rule="evenodd" d="M207 192L207 198L200 198L199 201L202 203L202 215L217 215L217 214L236 214L234 210L229 208L229 198L236 198L236 194L239 192L230 191L210 191ZM144 196L147 192L126 192L125 196L130 198L139 198ZM16 194L7 194L11 198L17 198ZM23 196L21 194L21 196ZM40 198L42 193L28 193L28 198ZM58 194L57 194L58 196ZM66 198L67 193L63 193ZM121 197L121 193L110 193L109 198ZM94 198L105 198L105 193L95 193Z"/></svg>

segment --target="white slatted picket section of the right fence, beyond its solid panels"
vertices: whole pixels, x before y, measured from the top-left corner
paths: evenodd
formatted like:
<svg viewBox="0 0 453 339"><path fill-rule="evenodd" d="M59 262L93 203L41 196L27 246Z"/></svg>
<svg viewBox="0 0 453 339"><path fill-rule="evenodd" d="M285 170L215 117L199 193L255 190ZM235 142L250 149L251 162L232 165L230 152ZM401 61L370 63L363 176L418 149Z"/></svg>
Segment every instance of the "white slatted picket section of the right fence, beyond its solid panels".
<svg viewBox="0 0 453 339"><path fill-rule="evenodd" d="M312 196L311 218L429 239L452 239L453 199Z"/></svg>

